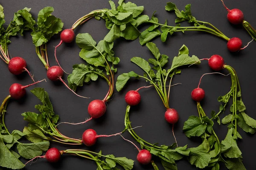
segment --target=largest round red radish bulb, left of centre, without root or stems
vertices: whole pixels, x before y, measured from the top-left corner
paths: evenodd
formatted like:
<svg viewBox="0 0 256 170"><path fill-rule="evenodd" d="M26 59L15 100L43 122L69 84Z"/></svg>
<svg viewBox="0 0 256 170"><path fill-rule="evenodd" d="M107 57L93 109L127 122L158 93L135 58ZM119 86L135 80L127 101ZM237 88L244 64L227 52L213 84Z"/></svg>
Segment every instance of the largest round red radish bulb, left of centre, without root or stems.
<svg viewBox="0 0 256 170"><path fill-rule="evenodd" d="M103 116L106 112L106 104L102 100L96 99L89 103L88 113L93 119Z"/></svg>

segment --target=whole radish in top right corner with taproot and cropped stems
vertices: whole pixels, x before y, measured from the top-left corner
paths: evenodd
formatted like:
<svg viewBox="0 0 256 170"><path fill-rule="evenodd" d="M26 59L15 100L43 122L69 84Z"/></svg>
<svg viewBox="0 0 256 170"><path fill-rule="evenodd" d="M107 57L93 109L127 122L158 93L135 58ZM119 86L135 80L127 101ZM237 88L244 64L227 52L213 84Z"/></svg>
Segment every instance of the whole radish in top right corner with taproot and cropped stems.
<svg viewBox="0 0 256 170"><path fill-rule="evenodd" d="M250 25L250 23L248 23L247 21L244 20L243 12L240 9L237 9L237 8L229 9L224 4L223 0L221 0L221 2L223 4L224 8L227 10L227 19L229 20L229 22L234 24L234 25L242 24L244 29L253 38L253 40L256 40L256 30ZM250 42L248 42L248 44L249 43Z"/></svg>

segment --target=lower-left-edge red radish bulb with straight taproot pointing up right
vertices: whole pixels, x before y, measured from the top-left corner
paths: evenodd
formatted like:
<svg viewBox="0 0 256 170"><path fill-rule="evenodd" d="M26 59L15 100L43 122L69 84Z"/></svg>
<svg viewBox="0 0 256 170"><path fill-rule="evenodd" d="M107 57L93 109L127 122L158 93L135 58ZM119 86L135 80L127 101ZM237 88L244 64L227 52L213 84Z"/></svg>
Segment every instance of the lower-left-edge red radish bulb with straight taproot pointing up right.
<svg viewBox="0 0 256 170"><path fill-rule="evenodd" d="M41 80L41 81L38 81L38 82L42 82L44 81L45 79ZM9 88L9 94L12 98L14 99L20 99L22 98L25 94L26 94L26 90L25 88L31 86L31 85L35 85L37 84L38 82L34 82L30 85L21 85L21 84L18 84L18 83L14 83L11 85L11 87Z"/></svg>

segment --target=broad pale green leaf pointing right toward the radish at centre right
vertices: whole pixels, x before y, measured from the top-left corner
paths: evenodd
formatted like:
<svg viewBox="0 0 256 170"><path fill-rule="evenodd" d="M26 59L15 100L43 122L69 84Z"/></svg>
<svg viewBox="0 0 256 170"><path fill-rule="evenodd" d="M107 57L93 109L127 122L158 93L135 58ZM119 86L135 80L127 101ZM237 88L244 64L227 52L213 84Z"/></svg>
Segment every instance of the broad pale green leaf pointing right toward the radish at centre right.
<svg viewBox="0 0 256 170"><path fill-rule="evenodd" d="M175 68L178 68L183 65L189 65L189 64L200 64L198 57L192 55L192 57L189 57L188 54L181 54L178 57L174 57L172 60L172 67L171 70L173 71Z"/></svg>

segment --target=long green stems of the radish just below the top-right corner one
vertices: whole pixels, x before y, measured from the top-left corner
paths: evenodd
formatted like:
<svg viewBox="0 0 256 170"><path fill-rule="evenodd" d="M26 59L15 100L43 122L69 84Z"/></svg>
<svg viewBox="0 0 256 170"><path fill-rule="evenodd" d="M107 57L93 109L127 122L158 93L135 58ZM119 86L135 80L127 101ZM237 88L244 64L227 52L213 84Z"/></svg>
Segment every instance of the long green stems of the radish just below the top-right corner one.
<svg viewBox="0 0 256 170"><path fill-rule="evenodd" d="M212 28L208 28L208 27L205 27L205 26L189 26L189 27L177 27L177 26L167 26L167 25L164 25L164 24L160 24L160 23L156 23L154 21L147 21L146 23L152 23L152 24L156 24L156 25L159 25L159 26L164 26L164 27L169 27L169 28L180 28L180 29L184 29L182 31L189 31L193 28L192 31L205 31L205 32L208 32L210 34L213 34L215 36L218 36L218 37L221 37L223 38L224 40L230 40L230 38L228 38L227 36L225 36L224 34L221 34L215 30L213 30ZM176 30L176 31L180 31L180 30Z"/></svg>

